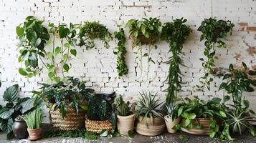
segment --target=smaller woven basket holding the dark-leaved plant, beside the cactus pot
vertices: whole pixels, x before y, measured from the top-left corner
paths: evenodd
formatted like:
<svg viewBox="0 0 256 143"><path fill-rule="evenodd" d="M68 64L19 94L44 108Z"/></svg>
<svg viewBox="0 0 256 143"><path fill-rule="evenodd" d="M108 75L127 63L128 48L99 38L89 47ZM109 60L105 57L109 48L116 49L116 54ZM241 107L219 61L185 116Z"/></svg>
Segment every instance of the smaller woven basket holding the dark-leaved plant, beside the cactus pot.
<svg viewBox="0 0 256 143"><path fill-rule="evenodd" d="M97 120L91 120L88 117L85 119L85 128L87 131L95 132L97 134L100 134L100 132L103 129L106 129L108 132L111 132L111 130L114 128L112 124L108 120L104 121L97 121Z"/></svg>

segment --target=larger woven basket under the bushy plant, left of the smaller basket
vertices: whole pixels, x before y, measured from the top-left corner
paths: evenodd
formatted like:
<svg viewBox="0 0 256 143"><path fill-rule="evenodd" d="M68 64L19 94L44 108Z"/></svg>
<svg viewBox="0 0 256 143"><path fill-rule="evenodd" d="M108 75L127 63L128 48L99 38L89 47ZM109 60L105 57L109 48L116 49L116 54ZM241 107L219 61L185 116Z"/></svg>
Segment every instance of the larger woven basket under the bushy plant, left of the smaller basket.
<svg viewBox="0 0 256 143"><path fill-rule="evenodd" d="M60 114L60 109L55 111L50 110L50 121L52 127L57 130L69 131L79 129L85 126L85 112L80 110L79 113L75 112L72 107L67 107L66 117L63 119Z"/></svg>

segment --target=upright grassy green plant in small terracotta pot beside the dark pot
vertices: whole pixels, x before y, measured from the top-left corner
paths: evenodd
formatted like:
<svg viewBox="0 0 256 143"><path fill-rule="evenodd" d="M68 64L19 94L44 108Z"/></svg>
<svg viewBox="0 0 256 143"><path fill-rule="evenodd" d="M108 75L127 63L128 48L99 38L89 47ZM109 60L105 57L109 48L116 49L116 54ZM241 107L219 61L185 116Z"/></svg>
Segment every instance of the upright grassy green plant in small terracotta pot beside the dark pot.
<svg viewBox="0 0 256 143"><path fill-rule="evenodd" d="M42 119L43 113L41 109L34 109L32 112L25 114L23 117L27 123L27 131L29 132L29 140L35 141L42 138Z"/></svg>

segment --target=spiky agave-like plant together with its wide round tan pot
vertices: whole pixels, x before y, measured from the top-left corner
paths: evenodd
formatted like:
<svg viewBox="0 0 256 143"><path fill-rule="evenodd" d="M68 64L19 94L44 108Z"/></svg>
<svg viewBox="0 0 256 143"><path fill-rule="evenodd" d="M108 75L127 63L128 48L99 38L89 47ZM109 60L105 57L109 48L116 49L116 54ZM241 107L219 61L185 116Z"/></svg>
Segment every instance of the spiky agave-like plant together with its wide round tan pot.
<svg viewBox="0 0 256 143"><path fill-rule="evenodd" d="M160 99L156 99L157 94L151 92L140 93L138 110L135 117L136 132L145 136L156 136L161 134L166 127L163 114L157 108L161 106Z"/></svg>

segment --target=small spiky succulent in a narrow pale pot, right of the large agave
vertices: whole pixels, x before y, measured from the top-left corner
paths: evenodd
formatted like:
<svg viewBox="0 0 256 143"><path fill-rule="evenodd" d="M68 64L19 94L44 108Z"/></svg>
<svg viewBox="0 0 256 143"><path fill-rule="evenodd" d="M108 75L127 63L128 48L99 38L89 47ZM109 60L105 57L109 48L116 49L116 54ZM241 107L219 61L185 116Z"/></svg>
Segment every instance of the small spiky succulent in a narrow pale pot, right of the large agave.
<svg viewBox="0 0 256 143"><path fill-rule="evenodd" d="M181 121L180 118L175 117L176 113L174 111L176 110L174 108L174 104L166 104L167 115L164 117L164 121L166 122L166 128L169 133L176 133L177 130L173 129L173 127Z"/></svg>

